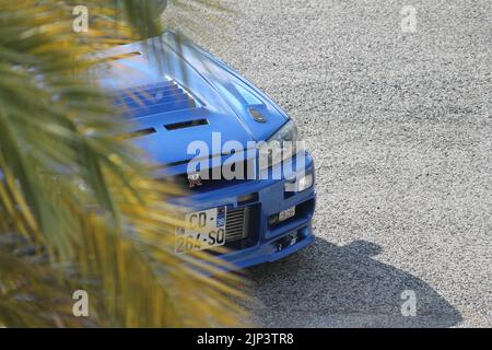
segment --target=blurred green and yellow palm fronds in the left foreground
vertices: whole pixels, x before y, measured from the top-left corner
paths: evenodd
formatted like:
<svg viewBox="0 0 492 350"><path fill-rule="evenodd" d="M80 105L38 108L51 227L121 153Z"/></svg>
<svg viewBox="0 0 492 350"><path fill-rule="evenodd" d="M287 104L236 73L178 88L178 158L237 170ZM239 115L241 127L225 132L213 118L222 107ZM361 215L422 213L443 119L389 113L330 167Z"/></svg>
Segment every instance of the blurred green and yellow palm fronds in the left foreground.
<svg viewBox="0 0 492 350"><path fill-rule="evenodd" d="M0 326L247 322L243 279L174 253L177 189L116 137L121 112L87 74L99 49L161 34L160 3L85 1L81 34L74 1L0 0ZM71 315L77 289L87 319Z"/></svg>

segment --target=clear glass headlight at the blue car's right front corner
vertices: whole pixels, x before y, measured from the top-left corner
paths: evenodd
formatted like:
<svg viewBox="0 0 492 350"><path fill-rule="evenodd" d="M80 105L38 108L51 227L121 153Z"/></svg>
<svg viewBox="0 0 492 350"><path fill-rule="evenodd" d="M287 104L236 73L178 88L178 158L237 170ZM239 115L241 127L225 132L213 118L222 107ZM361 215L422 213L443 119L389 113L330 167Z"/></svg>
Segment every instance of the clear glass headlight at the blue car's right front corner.
<svg viewBox="0 0 492 350"><path fill-rule="evenodd" d="M263 171L291 159L296 153L297 127L289 120L259 148L259 168Z"/></svg>

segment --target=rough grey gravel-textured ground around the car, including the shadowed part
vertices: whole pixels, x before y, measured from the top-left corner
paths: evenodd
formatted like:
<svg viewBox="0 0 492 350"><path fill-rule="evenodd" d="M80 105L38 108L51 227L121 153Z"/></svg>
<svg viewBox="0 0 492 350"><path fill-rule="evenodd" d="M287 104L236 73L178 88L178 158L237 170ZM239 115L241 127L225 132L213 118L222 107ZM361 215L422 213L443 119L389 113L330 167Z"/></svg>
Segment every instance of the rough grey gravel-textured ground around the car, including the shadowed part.
<svg viewBox="0 0 492 350"><path fill-rule="evenodd" d="M491 327L492 3L227 3L198 40L285 108L317 170L316 243L249 271L258 324Z"/></svg>

